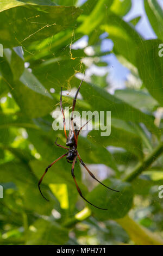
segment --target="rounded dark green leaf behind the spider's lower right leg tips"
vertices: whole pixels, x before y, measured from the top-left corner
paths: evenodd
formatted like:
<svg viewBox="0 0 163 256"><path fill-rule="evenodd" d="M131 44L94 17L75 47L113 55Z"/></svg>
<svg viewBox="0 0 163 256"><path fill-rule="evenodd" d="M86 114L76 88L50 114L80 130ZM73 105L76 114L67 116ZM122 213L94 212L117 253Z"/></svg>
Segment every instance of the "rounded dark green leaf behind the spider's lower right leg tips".
<svg viewBox="0 0 163 256"><path fill-rule="evenodd" d="M120 192L108 190L102 185L95 187L87 195L87 200L108 210L99 210L88 204L93 215L101 221L108 220L109 218L115 220L124 217L133 205L134 192L131 185L127 182L122 183L120 180L112 180L111 182L109 179L104 180L103 183Z"/></svg>

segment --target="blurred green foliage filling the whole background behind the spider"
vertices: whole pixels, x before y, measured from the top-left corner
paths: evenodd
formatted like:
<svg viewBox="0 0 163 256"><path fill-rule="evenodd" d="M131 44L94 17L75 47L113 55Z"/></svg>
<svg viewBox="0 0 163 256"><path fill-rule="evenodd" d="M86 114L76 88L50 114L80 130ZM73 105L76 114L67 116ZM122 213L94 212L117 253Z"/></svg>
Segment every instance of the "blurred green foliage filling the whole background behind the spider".
<svg viewBox="0 0 163 256"><path fill-rule="evenodd" d="M66 0L1 1L1 245L162 244L163 15L156 0L144 3L154 40L136 31L140 16L124 21L130 0L87 0L80 6ZM75 47L83 36L87 44ZM111 51L103 51L106 39L112 40ZM114 93L104 58L110 54L132 77ZM92 66L107 71L88 78ZM49 202L37 187L49 163L64 154L54 144L57 137L62 145L66 141L63 131L52 129L52 113L59 109L61 86L67 90L64 107L71 106L78 73L85 79L76 110L111 111L111 135L81 133L79 153L98 179L120 192L82 175L78 162L74 172L84 196L108 211L79 197L65 159L42 182Z"/></svg>

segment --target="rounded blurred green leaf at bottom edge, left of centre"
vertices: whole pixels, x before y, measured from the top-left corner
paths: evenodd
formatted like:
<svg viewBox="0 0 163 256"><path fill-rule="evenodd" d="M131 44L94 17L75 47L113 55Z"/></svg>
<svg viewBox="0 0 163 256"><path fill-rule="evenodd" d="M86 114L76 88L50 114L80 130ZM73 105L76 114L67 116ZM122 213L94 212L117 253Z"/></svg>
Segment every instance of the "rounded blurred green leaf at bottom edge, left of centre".
<svg viewBox="0 0 163 256"><path fill-rule="evenodd" d="M67 241L67 229L54 221L40 219L29 226L26 245L64 245Z"/></svg>

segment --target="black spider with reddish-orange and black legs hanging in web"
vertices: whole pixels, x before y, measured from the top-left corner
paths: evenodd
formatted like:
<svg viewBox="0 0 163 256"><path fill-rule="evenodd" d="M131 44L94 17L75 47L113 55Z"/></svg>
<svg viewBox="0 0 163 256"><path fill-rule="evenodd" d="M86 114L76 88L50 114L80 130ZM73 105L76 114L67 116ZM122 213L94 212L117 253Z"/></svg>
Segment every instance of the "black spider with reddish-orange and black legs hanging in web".
<svg viewBox="0 0 163 256"><path fill-rule="evenodd" d="M82 82L83 82L83 80L80 82L79 88L78 88L78 90L77 90L77 92L76 92L76 95L74 96L74 99L73 99L72 115L71 115L71 129L70 129L70 131L69 131L69 133L68 133L68 137L67 137L67 133L66 133L65 114L64 114L64 109L63 109L63 107L62 107L62 87L61 87L60 108L61 108L61 113L62 113L62 117L63 117L64 132L65 132L65 137L66 137L66 146L67 146L68 148L67 148L67 147L64 147L64 146L62 146L62 145L60 145L60 144L58 144L58 143L57 143L57 139L58 139L58 138L56 139L55 144L56 144L58 147L61 147L61 148L64 148L64 149L68 150L68 152L67 152L66 154L60 156L57 160L55 160L55 161L52 162L51 164L49 164L49 166L48 166L48 167L46 168L46 170L45 170L45 173L43 173L41 179L39 180L38 186L39 186L39 190L40 190L40 193L41 193L42 197L45 198L45 197L43 196L42 192L41 192L41 189L40 189L40 184L41 184L41 182L42 182L42 179L43 179L43 177L45 176L45 174L47 173L48 169L49 169L50 167L52 167L54 163L56 163L57 161L59 161L60 159L62 159L62 157L66 156L67 162L69 162L69 163L72 164L71 175L72 175L72 177L73 177L73 179L74 179L74 182L75 182L75 184L76 184L76 187L77 187L77 190L78 190L78 193L79 193L80 197L82 197L87 203L91 204L92 206L94 206L94 207L96 207L96 208L98 208L98 209L101 209L101 210L108 210L108 209L100 208L100 207L98 207L98 206L96 206L96 205L90 203L88 200L86 200L86 198L83 196L82 191L80 190L80 188L79 188L79 186L78 186L78 184L77 184L76 177L75 177L75 175L74 175L74 165L75 165L75 163L77 162L77 157L78 157L80 163L84 166L84 168L87 170L87 172L91 175L91 177L92 177L93 179L95 179L96 181L98 181L98 182L99 182L100 184L102 184L104 187L109 188L109 190L119 192L119 191L114 190L114 189L112 189L112 188L110 188L110 187L107 187L107 186L104 185L101 181L99 181L99 180L95 177L95 175L93 175L93 173L91 173L91 171L86 167L85 163L84 163L83 160L81 159L81 157L80 157L80 155L79 155L79 152L78 152L78 150L77 150L78 136L79 136L80 131L83 129L83 127L84 127L87 123L89 123L89 121L90 121L91 119L93 119L93 117L92 117L91 119L89 119L82 127L80 127L79 130L78 130L77 127L76 127L76 123L73 122L73 112L74 112L74 108L75 108L75 106L76 106L76 99L77 99L77 96L78 96L78 93L79 93L80 86L82 85ZM76 129L74 129L74 127L76 127ZM72 162L71 162L71 161L72 161ZM46 198L45 198L45 199L46 199ZM46 200L47 200L47 199L46 199ZM49 201L49 200L47 200L47 201Z"/></svg>

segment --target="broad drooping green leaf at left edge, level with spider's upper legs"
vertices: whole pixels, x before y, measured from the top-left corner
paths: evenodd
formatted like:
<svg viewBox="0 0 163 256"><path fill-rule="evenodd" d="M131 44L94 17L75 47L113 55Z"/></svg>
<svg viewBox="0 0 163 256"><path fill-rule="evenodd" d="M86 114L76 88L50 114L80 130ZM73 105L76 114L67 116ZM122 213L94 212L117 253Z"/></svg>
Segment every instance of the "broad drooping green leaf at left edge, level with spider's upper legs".
<svg viewBox="0 0 163 256"><path fill-rule="evenodd" d="M21 111L29 118L42 117L53 110L53 99L42 84L27 69L14 81L9 63L4 59L0 68L10 93Z"/></svg>

